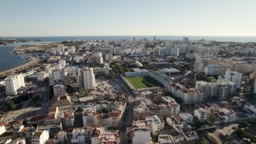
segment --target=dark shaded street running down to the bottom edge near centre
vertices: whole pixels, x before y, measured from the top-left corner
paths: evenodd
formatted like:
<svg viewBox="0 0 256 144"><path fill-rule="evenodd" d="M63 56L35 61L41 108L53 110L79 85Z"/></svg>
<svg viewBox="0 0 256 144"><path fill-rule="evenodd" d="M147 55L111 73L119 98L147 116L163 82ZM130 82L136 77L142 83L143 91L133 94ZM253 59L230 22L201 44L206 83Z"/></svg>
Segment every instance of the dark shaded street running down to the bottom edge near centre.
<svg viewBox="0 0 256 144"><path fill-rule="evenodd" d="M124 116L122 118L121 124L120 124L120 139L121 144L128 144L127 138L126 138L126 128L131 127L131 124L133 122L133 108L135 106L135 102L132 102L128 104L128 106L125 109Z"/></svg>

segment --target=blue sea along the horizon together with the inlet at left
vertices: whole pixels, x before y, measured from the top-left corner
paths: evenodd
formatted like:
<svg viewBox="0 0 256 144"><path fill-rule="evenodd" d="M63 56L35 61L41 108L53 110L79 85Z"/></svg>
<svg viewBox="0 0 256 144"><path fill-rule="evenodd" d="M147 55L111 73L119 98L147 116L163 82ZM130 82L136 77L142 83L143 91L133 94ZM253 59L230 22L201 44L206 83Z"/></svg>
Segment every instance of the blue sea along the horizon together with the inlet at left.
<svg viewBox="0 0 256 144"><path fill-rule="evenodd" d="M23 64L27 61L26 58L23 58L14 53L8 53L13 50L13 47L20 45L35 45L41 43L48 42L60 42L66 40L132 40L133 37L137 39L147 38L147 40L153 40L154 36L150 35L133 35L133 36L51 36L51 37L0 37L1 38L9 38L9 39L24 39L24 40L44 40L41 42L29 42L29 43L13 43L9 45L0 46L0 72L8 69L17 67L20 64ZM161 36L156 35L157 39L161 40L182 40L183 37L188 37L189 40L216 40L222 42L256 42L256 36Z"/></svg>

